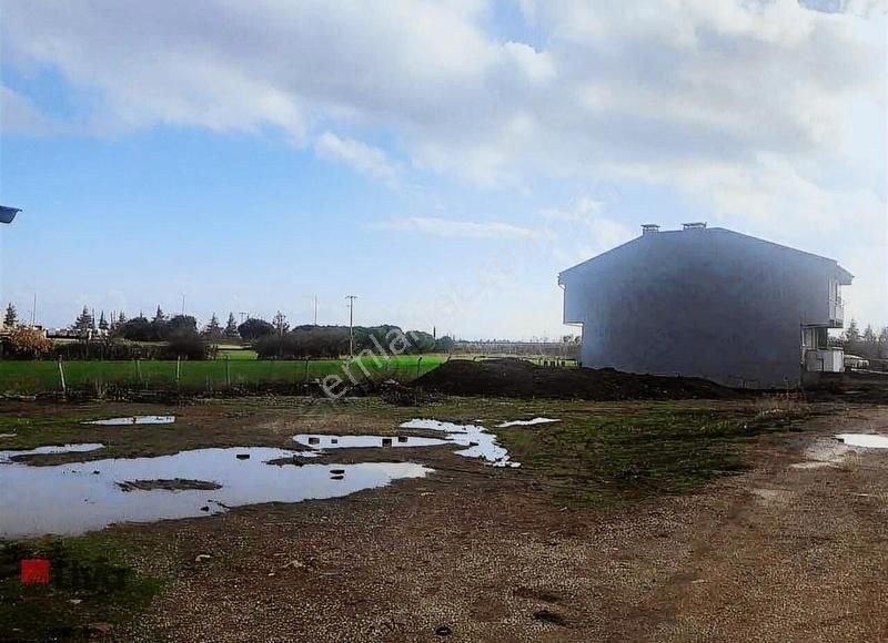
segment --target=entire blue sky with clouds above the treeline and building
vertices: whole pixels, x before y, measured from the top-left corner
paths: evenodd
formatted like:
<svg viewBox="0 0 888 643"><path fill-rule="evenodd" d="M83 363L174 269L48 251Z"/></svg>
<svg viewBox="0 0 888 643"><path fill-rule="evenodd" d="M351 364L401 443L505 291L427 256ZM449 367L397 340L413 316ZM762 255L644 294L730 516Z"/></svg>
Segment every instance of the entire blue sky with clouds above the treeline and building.
<svg viewBox="0 0 888 643"><path fill-rule="evenodd" d="M559 337L644 223L838 259L888 325L885 0L7 0L0 299Z"/></svg>

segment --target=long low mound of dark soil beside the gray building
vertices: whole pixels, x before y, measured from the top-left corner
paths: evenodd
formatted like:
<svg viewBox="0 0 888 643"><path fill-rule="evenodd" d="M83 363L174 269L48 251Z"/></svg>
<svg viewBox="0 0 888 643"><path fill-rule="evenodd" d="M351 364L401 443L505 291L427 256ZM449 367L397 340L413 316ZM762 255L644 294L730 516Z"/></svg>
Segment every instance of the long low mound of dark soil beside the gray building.
<svg viewBox="0 0 888 643"><path fill-rule="evenodd" d="M547 397L594 400L738 397L734 389L696 377L635 375L613 368L558 368L521 359L455 359L413 386L460 396Z"/></svg>

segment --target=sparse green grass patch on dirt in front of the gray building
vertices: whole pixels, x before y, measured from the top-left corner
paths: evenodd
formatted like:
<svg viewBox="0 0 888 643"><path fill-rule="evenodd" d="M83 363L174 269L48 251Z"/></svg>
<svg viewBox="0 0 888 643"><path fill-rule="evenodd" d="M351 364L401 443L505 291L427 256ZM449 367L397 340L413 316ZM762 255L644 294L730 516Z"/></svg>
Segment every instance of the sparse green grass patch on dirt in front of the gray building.
<svg viewBox="0 0 888 643"><path fill-rule="evenodd" d="M769 432L794 430L791 420L804 414L799 406L763 412L759 405L642 402L497 433L514 459L548 479L557 502L619 504L694 491L741 471L746 445Z"/></svg>

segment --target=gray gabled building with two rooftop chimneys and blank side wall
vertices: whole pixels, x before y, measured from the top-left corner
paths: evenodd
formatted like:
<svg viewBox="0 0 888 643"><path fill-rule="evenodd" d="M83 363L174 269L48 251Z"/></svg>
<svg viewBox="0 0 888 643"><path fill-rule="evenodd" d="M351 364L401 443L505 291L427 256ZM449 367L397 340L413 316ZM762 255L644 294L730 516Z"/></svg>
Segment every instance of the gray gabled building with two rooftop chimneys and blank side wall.
<svg viewBox="0 0 888 643"><path fill-rule="evenodd" d="M835 261L706 224L642 236L558 275L564 323L593 368L784 387L841 372Z"/></svg>

